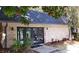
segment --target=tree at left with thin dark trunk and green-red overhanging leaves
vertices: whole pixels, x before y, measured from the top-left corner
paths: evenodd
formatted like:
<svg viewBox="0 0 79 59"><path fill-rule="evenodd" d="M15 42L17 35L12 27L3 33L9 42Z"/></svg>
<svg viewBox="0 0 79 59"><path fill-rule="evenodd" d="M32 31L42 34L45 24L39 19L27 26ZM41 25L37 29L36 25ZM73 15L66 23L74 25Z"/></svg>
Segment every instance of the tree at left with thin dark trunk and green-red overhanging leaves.
<svg viewBox="0 0 79 59"><path fill-rule="evenodd" d="M10 20L12 17L17 15L20 16L21 23L29 24L30 21L28 20L26 13L28 12L29 8L36 8L36 7L37 6L2 6L0 7L0 11L2 11L4 15L6 15ZM5 26L5 33L6 33L5 48L7 48L7 26L8 26L8 22L6 22L6 26Z"/></svg>

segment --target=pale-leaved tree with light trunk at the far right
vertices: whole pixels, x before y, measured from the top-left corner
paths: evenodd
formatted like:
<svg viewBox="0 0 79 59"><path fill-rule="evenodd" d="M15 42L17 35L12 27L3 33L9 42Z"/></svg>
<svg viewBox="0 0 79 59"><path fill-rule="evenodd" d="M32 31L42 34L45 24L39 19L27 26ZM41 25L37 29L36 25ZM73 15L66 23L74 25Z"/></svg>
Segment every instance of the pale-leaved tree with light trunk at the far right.
<svg viewBox="0 0 79 59"><path fill-rule="evenodd" d="M77 28L78 28L78 7L67 7L66 14L68 17L68 27L69 27L69 38L77 38ZM75 32L74 32L75 30Z"/></svg>

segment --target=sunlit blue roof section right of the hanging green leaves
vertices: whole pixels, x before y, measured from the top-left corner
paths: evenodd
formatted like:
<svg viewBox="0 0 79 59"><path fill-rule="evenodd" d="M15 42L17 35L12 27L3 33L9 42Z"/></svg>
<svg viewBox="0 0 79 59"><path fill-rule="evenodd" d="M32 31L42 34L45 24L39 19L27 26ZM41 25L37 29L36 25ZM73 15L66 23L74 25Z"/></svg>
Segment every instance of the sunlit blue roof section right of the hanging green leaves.
<svg viewBox="0 0 79 59"><path fill-rule="evenodd" d="M55 19L52 16L49 16L46 13L37 12L37 11L28 11L27 15L29 16L32 23L39 24L66 24L67 18L65 16Z"/></svg>

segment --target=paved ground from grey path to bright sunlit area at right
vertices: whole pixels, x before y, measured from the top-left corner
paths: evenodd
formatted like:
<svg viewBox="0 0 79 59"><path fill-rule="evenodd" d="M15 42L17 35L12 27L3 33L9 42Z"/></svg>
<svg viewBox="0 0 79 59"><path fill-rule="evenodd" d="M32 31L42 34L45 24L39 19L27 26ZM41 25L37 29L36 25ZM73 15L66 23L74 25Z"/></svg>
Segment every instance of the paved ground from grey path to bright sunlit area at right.
<svg viewBox="0 0 79 59"><path fill-rule="evenodd" d="M38 53L79 53L79 42L65 41L64 43L57 43L51 45L43 45L32 49Z"/></svg>

